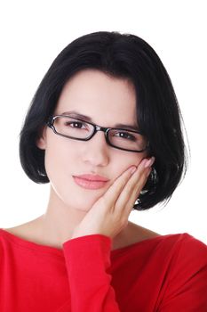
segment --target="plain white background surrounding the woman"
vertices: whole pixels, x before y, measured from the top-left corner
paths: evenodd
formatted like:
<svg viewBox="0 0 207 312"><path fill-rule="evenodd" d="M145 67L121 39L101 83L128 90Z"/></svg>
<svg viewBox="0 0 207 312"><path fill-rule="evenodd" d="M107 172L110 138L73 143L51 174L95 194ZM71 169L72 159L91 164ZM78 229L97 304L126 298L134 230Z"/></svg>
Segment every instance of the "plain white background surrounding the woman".
<svg viewBox="0 0 207 312"><path fill-rule="evenodd" d="M58 53L100 30L145 39L168 70L185 120L191 160L163 209L132 211L130 220L160 234L185 233L207 243L205 1L2 1L0 7L0 227L44 213L49 185L20 167L19 134L28 105Z"/></svg>

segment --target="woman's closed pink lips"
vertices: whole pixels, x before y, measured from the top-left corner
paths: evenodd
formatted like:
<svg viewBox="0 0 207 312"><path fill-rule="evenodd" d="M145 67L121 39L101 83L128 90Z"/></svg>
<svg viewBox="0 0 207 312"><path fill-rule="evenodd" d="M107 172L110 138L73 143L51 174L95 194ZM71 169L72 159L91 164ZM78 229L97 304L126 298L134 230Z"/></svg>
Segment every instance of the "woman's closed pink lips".
<svg viewBox="0 0 207 312"><path fill-rule="evenodd" d="M83 177L87 177L83 178ZM104 187L107 184L106 178L100 176L92 176L92 175L82 175L82 176L73 176L76 185L79 185L88 190L97 190ZM91 178L91 179L89 179ZM102 178L102 180L100 180ZM92 180L93 179L93 180ZM96 179L96 180L95 180Z"/></svg>

